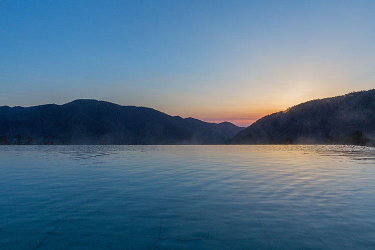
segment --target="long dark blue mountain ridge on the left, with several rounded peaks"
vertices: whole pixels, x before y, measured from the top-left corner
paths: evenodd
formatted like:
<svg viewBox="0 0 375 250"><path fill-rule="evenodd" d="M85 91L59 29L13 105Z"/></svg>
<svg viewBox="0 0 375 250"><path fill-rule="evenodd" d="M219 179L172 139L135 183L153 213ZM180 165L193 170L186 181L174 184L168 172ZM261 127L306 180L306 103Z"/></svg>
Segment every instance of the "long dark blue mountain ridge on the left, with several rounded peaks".
<svg viewBox="0 0 375 250"><path fill-rule="evenodd" d="M90 99L0 107L2 144L221 144L241 129Z"/></svg>

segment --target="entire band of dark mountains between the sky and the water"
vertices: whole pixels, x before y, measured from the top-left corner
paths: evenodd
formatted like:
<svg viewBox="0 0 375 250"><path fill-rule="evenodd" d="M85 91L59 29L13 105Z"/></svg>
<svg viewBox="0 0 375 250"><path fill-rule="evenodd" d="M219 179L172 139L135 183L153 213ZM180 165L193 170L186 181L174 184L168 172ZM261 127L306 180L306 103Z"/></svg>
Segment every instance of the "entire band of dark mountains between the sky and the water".
<svg viewBox="0 0 375 250"><path fill-rule="evenodd" d="M79 99L0 107L0 144L375 145L375 89L310 100L243 129L148 107Z"/></svg>

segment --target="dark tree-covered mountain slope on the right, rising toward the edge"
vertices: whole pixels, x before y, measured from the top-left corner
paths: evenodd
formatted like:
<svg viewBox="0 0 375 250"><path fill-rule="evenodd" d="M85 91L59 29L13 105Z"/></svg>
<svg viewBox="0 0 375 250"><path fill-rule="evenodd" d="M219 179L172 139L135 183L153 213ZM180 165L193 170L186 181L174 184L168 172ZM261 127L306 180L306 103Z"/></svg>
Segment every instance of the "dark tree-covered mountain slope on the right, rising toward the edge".
<svg viewBox="0 0 375 250"><path fill-rule="evenodd" d="M375 89L315 99L266 115L227 144L374 145Z"/></svg>

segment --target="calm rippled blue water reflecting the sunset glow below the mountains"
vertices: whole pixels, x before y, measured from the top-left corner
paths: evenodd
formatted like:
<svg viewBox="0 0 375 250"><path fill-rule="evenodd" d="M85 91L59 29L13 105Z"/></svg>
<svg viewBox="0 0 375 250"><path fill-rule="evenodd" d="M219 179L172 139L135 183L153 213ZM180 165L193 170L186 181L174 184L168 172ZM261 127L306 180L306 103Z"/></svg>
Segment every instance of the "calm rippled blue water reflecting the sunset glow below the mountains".
<svg viewBox="0 0 375 250"><path fill-rule="evenodd" d="M374 249L375 148L0 146L0 248Z"/></svg>

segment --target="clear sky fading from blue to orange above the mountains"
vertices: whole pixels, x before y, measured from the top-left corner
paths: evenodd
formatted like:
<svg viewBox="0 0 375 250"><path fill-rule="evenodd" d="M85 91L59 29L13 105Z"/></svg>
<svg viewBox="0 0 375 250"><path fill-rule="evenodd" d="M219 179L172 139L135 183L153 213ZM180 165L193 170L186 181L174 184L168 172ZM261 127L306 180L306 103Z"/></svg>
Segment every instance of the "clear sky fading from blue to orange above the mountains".
<svg viewBox="0 0 375 250"><path fill-rule="evenodd" d="M0 0L0 105L89 98L248 126L375 87L375 1Z"/></svg>

